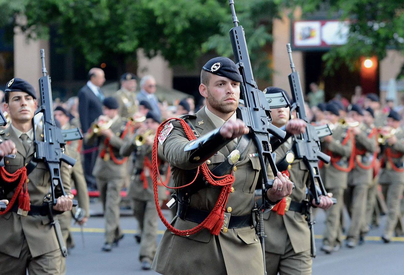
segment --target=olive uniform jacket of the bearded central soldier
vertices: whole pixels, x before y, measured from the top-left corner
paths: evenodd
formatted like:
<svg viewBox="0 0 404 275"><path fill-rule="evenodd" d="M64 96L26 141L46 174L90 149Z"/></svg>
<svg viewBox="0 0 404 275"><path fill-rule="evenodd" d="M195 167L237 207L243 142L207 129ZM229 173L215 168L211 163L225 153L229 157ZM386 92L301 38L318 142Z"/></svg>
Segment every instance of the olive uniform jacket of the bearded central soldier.
<svg viewBox="0 0 404 275"><path fill-rule="evenodd" d="M208 118L204 108L189 119L199 136L214 130L216 127ZM175 186L190 183L194 178L195 168L201 163L191 164L190 152L184 152L188 141L179 122L172 122L174 129L160 146L160 158L168 160ZM210 157L206 163L210 170L229 155L228 145ZM250 143L246 156L236 162L234 172L234 192L229 194L226 212L231 215L247 215L254 207L254 191L259 179L260 164L258 157L249 156L257 153L256 147ZM271 174L272 176L272 174ZM199 180L201 180L199 178ZM190 207L210 211L213 209L220 193L220 188L207 186L190 197ZM229 208L231 207L231 209ZM231 220L231 217L230 217ZM171 225L180 230L197 226L187 220L175 216ZM161 274L263 274L263 255L261 244L255 229L243 227L220 231L219 236L211 235L206 229L189 236L179 236L166 230L158 246L152 268Z"/></svg>

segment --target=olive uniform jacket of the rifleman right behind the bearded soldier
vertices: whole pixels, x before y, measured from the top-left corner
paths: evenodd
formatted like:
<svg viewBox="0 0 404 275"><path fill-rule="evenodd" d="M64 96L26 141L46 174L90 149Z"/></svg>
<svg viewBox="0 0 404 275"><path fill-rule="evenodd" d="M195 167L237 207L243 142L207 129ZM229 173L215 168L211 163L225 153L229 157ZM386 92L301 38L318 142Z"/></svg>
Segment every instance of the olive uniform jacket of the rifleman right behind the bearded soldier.
<svg viewBox="0 0 404 275"><path fill-rule="evenodd" d="M291 141L289 139L288 141ZM292 142L286 141L276 149L276 162L281 160L292 148ZM302 202L306 198L306 186L309 185L309 172L302 160L295 160L288 169L290 181L295 188L289 196L294 202ZM286 211L279 215L274 211L264 214L265 251L284 254L286 239L289 238L295 253L310 249L310 229L305 216L295 211ZM276 234L275 234L276 232Z"/></svg>

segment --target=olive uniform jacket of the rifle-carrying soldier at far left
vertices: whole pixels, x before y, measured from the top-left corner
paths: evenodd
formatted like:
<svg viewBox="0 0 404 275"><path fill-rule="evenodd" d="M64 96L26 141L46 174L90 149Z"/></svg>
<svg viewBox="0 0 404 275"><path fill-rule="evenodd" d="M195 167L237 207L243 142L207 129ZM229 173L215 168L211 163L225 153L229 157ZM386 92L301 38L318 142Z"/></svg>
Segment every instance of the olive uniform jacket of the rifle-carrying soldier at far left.
<svg viewBox="0 0 404 275"><path fill-rule="evenodd" d="M41 132L36 130L38 139L42 139ZM15 158L4 158L4 168L9 173L14 173L28 163L35 153L34 143L26 152L21 139L17 137L11 126L0 130L0 142L11 140L15 143L18 151ZM70 193L69 169L67 164L61 164L61 177L63 187L67 194ZM34 206L41 206L43 199L49 192L49 172L44 162L38 162L36 168L28 175L27 187L29 202ZM11 199L14 192L8 193L7 198ZM27 240L29 251L32 257L41 256L48 252L59 249L55 229L50 225L48 216L21 216L16 212L9 211L0 215L0 227L3 229L0 234L0 252L18 258L23 246L24 238Z"/></svg>

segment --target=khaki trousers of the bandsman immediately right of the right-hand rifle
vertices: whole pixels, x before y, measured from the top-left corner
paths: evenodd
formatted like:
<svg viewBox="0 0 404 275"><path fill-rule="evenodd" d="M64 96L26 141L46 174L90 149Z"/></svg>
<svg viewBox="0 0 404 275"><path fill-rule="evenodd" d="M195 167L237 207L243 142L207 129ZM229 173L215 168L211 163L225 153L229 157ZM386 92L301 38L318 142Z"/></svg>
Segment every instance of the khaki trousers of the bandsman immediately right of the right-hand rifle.
<svg viewBox="0 0 404 275"><path fill-rule="evenodd" d="M327 191L332 193L332 197L335 197L338 202L341 202L326 210L326 229L324 231L323 244L335 246L342 242L341 209L343 208L344 189L329 188Z"/></svg>

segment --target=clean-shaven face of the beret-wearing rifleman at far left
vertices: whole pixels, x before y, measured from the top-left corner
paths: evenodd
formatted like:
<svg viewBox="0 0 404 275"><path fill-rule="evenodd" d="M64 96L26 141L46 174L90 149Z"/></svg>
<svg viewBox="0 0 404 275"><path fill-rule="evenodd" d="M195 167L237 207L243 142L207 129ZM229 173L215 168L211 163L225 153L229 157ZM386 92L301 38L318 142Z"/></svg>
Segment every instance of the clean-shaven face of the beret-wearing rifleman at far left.
<svg viewBox="0 0 404 275"><path fill-rule="evenodd" d="M34 98L26 92L10 92L8 104L4 103L4 109L10 114L13 122L24 123L32 120L36 105Z"/></svg>

